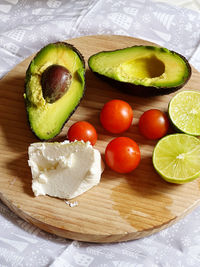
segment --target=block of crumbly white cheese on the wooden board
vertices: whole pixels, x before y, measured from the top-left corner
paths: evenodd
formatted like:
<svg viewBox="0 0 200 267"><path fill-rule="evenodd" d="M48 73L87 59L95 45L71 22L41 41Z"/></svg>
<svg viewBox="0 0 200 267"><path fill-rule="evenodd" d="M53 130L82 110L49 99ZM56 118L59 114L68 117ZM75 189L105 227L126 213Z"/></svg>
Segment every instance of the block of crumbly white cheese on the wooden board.
<svg viewBox="0 0 200 267"><path fill-rule="evenodd" d="M77 197L100 182L104 169L89 142L33 143L28 154L35 196Z"/></svg>

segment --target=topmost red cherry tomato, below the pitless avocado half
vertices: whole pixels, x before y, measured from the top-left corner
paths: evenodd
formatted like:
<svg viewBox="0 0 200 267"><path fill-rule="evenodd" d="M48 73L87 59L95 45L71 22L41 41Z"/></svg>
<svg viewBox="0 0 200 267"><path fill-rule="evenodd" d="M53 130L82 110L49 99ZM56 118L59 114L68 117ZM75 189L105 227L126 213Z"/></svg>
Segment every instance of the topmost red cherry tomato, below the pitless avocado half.
<svg viewBox="0 0 200 267"><path fill-rule="evenodd" d="M126 131L132 123L133 110L131 106L118 99L107 102L100 113L102 126L111 133L122 133Z"/></svg>

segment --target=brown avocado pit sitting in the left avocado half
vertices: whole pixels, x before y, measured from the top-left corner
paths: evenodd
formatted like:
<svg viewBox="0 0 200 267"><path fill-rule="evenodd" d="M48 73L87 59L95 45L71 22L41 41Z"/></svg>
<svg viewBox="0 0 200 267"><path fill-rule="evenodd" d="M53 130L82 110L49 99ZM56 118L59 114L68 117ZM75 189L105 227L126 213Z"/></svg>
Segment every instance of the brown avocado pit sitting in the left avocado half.
<svg viewBox="0 0 200 267"><path fill-rule="evenodd" d="M53 64L42 73L41 85L44 99L54 103L69 89L72 75L64 66Z"/></svg>

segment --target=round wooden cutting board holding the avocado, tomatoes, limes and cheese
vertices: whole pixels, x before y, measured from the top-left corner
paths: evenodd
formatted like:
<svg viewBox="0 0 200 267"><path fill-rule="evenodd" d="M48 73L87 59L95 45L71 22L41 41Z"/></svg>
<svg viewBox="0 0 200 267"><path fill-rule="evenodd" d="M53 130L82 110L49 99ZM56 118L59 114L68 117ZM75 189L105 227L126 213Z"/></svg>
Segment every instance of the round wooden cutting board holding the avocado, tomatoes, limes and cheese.
<svg viewBox="0 0 200 267"><path fill-rule="evenodd" d="M151 43L123 36L87 36L68 40L85 58L102 50L114 50ZM200 179L184 185L165 182L154 171L152 151L156 141L139 134L138 119L147 109L167 111L173 94L149 98L123 94L95 77L87 68L85 96L55 141L66 139L68 128L79 120L97 129L95 147L102 153L110 140L100 125L99 113L111 99L127 101L133 108L131 128L123 136L133 138L141 149L141 163L130 174L117 174L108 167L98 186L73 199L70 207L62 199L34 197L27 164L28 146L39 140L31 132L24 105L24 78L32 57L17 65L0 81L0 198L16 214L39 228L70 239L90 242L115 242L138 239L173 224L200 202ZM184 89L199 90L200 74L193 74Z"/></svg>

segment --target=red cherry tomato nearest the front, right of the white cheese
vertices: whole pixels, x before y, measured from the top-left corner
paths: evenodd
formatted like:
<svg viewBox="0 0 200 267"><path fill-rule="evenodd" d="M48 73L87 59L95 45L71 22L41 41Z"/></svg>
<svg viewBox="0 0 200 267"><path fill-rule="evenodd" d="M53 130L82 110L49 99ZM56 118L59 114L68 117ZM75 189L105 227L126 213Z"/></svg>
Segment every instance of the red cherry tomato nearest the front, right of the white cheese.
<svg viewBox="0 0 200 267"><path fill-rule="evenodd" d="M139 146L128 137L117 137L106 147L105 161L114 171L129 173L140 163Z"/></svg>

